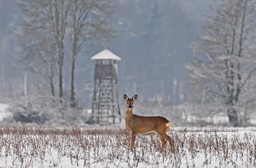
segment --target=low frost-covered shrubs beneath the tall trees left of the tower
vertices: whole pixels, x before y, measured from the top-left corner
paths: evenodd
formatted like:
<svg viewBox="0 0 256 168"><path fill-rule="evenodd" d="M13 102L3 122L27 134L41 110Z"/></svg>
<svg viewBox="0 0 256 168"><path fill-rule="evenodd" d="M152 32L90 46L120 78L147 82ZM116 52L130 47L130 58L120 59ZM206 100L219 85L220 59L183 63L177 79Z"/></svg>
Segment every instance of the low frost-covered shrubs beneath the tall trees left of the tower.
<svg viewBox="0 0 256 168"><path fill-rule="evenodd" d="M88 115L82 107L70 107L68 97L57 98L46 95L20 97L9 106L8 122L37 123L47 125L79 125L87 121Z"/></svg>

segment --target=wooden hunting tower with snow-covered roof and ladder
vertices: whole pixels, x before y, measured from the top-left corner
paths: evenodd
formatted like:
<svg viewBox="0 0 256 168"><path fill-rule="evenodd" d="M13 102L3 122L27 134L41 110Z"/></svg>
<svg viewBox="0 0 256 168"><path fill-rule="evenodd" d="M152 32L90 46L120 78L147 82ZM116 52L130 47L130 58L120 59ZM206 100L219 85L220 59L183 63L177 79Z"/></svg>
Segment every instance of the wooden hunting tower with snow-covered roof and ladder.
<svg viewBox="0 0 256 168"><path fill-rule="evenodd" d="M93 122L99 124L121 122L121 113L118 98L118 68L116 61L121 58L105 49L94 55L91 60L96 60L94 69L93 88Z"/></svg>

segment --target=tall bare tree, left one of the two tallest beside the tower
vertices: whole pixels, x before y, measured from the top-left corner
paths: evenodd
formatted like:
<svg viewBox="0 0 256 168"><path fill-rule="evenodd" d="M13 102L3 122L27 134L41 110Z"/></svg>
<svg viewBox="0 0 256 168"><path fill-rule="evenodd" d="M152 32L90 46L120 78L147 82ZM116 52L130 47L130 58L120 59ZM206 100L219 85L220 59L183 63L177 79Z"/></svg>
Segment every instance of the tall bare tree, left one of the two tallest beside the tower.
<svg viewBox="0 0 256 168"><path fill-rule="evenodd" d="M29 33L35 35L34 38L30 38L30 44L38 39L37 33L53 37L58 51L59 96L62 97L64 38L71 0L18 0L17 4L23 14L24 36Z"/></svg>

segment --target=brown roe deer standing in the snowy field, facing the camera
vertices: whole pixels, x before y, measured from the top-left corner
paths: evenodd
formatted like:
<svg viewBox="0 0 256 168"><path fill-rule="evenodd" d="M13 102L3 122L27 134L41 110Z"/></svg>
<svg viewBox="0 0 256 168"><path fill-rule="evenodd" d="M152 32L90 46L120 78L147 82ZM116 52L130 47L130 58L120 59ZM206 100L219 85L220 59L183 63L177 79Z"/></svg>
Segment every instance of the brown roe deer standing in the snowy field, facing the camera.
<svg viewBox="0 0 256 168"><path fill-rule="evenodd" d="M169 141L171 152L173 153L172 138L166 134L166 130L170 130L170 122L161 116L137 116L133 114L132 109L137 97L135 95L132 98L128 98L127 95L124 95L126 101L125 127L131 133L131 151L133 151L137 133L146 134L155 132L162 142L161 151L166 145L166 139Z"/></svg>

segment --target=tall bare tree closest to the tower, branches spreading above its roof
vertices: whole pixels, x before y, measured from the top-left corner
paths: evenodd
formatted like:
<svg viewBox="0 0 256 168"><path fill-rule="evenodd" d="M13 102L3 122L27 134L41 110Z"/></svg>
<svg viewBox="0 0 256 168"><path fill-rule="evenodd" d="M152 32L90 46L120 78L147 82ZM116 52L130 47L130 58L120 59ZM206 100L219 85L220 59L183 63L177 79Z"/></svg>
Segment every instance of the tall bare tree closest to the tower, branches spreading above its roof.
<svg viewBox="0 0 256 168"><path fill-rule="evenodd" d="M71 105L76 106L74 71L77 55L85 41L116 38L113 20L116 0L72 0L70 12L70 41L72 45Z"/></svg>

